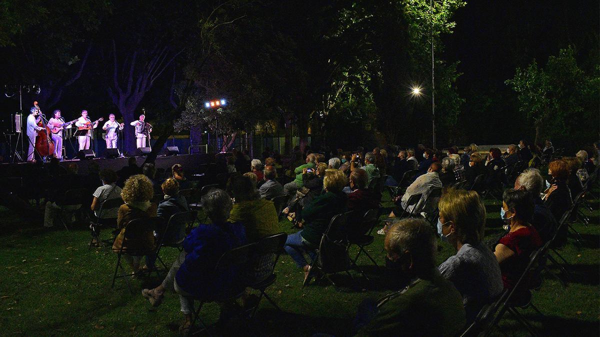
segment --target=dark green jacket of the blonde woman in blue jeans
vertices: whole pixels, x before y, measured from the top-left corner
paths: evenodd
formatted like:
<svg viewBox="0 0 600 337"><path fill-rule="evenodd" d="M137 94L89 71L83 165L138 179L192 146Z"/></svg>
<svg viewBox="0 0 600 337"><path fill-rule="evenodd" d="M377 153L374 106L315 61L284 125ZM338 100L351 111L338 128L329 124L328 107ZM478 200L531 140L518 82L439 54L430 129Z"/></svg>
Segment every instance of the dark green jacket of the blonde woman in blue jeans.
<svg viewBox="0 0 600 337"><path fill-rule="evenodd" d="M326 192L315 197L308 206L302 210L302 219L305 224L301 236L317 248L323 233L329 226L329 221L336 214L346 212L346 193Z"/></svg>

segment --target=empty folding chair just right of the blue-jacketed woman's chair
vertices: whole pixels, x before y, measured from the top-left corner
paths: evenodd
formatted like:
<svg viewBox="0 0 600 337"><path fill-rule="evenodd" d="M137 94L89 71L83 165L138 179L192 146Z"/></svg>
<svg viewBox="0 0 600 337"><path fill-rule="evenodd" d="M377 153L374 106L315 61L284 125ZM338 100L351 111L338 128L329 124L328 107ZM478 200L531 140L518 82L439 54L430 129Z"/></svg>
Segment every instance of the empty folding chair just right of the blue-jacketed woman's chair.
<svg viewBox="0 0 600 337"><path fill-rule="evenodd" d="M275 234L272 236L263 237L258 242L256 242L256 245L253 246L253 249L251 251L251 260L254 261L255 264L256 263L258 263L258 264L264 263L265 259L270 260L272 255L275 255L275 261L271 267L271 275L269 275L267 278L263 279L262 281L255 282L249 286L250 288L253 288L254 290L260 291L259 300L256 303L256 306L254 307L253 311L251 312L250 318L254 317L254 314L256 314L256 311L259 308L260 300L262 300L263 296L275 308L277 308L277 310L281 311L281 308L279 308L277 303L275 303L274 300L272 300L271 297L269 297L265 293L265 290L266 290L266 288L268 288L272 284L274 284L275 280L277 279L277 274L275 274L275 266L277 266L277 261L279 260L279 257L281 255L283 245L286 244L286 239L287 239L286 233L279 233L279 234Z"/></svg>

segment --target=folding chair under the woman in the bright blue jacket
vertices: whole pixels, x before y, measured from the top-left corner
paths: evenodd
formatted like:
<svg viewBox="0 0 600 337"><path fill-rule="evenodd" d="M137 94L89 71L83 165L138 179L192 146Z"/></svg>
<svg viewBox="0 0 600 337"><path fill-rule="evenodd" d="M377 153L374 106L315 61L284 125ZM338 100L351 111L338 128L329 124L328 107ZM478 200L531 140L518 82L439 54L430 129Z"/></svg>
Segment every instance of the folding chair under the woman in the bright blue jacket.
<svg viewBox="0 0 600 337"><path fill-rule="evenodd" d="M213 275L221 275L221 273L232 269L238 269L239 272L243 274L243 271L246 270L248 263L250 262L250 254L255 245L256 242L224 252L224 254L219 258L217 266L215 266ZM203 328L202 330L208 329L206 324L204 324L200 318L200 310L202 310L202 306L205 303L227 302L238 299L242 296L244 293L244 288L247 286L246 280L241 277L233 278L233 280L236 280L236 282L232 285L231 289L226 289L221 293L214 293L210 297L193 297L194 301L198 301L200 304L198 305L197 309L192 310L193 319L191 321L190 333L188 333L188 336L191 335L192 328L194 327L194 324L196 324L196 321L200 321L200 324L202 324Z"/></svg>

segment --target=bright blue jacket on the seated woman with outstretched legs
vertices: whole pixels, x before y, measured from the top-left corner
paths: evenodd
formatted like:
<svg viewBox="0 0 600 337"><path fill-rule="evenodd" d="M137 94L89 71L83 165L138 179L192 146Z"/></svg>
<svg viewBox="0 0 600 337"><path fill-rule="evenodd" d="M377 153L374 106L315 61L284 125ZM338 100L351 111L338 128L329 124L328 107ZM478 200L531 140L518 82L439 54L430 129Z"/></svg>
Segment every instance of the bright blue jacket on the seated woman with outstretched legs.
<svg viewBox="0 0 600 337"><path fill-rule="evenodd" d="M242 290L243 270L224 270L215 275L221 255L246 244L246 231L239 222L224 225L201 224L188 235L183 247L187 255L175 279L179 287L202 299L221 299L223 294Z"/></svg>

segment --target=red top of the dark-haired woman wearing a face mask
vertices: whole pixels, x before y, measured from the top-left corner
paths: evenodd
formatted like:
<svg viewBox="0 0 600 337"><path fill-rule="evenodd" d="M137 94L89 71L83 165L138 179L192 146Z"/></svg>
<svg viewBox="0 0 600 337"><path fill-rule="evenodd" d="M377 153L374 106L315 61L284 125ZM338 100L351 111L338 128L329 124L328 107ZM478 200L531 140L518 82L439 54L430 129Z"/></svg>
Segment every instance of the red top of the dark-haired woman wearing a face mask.
<svg viewBox="0 0 600 337"><path fill-rule="evenodd" d="M515 255L509 260L500 264L504 287L512 289L529 264L532 252L542 246L542 239L539 237L538 231L533 226L529 226L506 234L498 243L502 243L515 252Z"/></svg>

